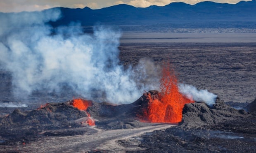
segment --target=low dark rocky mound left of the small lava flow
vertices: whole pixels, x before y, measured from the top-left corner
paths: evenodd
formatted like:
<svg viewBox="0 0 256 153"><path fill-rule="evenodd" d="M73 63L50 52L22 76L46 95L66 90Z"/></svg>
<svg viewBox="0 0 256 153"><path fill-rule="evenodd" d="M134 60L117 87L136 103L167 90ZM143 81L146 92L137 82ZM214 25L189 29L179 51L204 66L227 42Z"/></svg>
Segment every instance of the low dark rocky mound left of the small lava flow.
<svg viewBox="0 0 256 153"><path fill-rule="evenodd" d="M9 116L0 118L1 126L10 125L51 125L51 128L64 128L70 121L87 117L84 111L79 111L68 103L47 103L32 111L20 111L15 109Z"/></svg>

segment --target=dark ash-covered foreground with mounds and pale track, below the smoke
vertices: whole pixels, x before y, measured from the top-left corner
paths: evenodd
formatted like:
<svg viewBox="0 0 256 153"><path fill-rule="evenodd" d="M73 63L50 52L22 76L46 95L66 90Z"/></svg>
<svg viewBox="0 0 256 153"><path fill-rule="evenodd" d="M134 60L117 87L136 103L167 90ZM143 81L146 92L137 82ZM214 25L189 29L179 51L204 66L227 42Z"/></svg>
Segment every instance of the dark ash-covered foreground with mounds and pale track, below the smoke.
<svg viewBox="0 0 256 153"><path fill-rule="evenodd" d="M185 104L178 125L140 120L149 106L143 94L131 104L92 102L85 111L65 103L48 103L36 110L1 116L2 152L254 152L255 102L252 111L234 109L216 99ZM91 117L89 117L91 116ZM88 119L95 121L89 126ZM153 130L155 130L153 132ZM147 132L145 134L145 132ZM142 135L141 135L142 134Z"/></svg>

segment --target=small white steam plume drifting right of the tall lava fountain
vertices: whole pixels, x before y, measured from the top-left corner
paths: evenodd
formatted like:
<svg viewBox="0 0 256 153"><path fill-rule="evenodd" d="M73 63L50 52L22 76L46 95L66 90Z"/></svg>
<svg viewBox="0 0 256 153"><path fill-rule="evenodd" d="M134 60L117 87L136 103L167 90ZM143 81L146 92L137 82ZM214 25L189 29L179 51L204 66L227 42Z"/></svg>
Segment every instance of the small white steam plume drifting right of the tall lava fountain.
<svg viewBox="0 0 256 153"><path fill-rule="evenodd" d="M179 84L180 93L185 95L188 98L192 98L197 102L205 102L209 106L215 104L217 95L209 93L207 90L197 90L196 87L180 83Z"/></svg>

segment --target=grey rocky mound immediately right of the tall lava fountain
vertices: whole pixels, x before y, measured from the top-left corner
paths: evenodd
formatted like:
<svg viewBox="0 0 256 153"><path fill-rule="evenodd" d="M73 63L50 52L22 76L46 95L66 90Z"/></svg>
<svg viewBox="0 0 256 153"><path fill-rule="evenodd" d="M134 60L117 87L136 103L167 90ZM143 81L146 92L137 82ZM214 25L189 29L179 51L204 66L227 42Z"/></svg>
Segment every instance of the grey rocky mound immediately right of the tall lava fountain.
<svg viewBox="0 0 256 153"><path fill-rule="evenodd" d="M217 98L216 103L211 107L198 102L185 104L180 125L189 127L213 126L233 120L241 120L247 116L247 112L243 109L234 109Z"/></svg>

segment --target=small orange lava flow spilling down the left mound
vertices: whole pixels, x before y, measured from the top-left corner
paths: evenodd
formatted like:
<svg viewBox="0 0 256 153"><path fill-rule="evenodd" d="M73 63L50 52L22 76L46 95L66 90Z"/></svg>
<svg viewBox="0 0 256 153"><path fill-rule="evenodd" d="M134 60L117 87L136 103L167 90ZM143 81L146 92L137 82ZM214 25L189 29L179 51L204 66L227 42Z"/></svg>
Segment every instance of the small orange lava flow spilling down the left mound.
<svg viewBox="0 0 256 153"><path fill-rule="evenodd" d="M85 122L86 124L93 126L95 125L95 121L93 118L91 118L90 114L86 111L88 107L92 106L92 102L88 100L83 100L83 99L74 99L72 102L73 107L78 108L79 110L83 110L86 112L88 118L87 121Z"/></svg>

